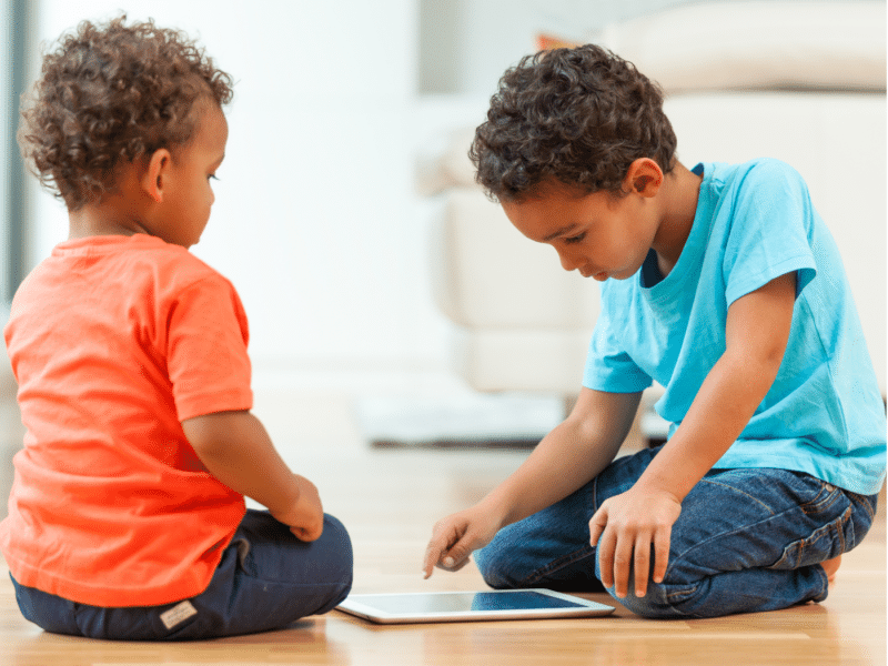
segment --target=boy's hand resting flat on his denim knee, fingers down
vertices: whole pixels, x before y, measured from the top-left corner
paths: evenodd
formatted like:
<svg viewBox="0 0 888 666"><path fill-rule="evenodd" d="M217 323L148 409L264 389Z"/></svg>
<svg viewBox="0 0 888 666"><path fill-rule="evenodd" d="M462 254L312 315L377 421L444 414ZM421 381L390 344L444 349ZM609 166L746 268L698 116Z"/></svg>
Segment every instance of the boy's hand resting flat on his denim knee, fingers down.
<svg viewBox="0 0 888 666"><path fill-rule="evenodd" d="M589 543L598 548L604 586L615 586L616 596L625 597L634 571L635 596L645 596L652 543L654 582L662 583L669 563L673 524L680 513L682 503L665 491L634 487L606 500L589 521Z"/></svg>

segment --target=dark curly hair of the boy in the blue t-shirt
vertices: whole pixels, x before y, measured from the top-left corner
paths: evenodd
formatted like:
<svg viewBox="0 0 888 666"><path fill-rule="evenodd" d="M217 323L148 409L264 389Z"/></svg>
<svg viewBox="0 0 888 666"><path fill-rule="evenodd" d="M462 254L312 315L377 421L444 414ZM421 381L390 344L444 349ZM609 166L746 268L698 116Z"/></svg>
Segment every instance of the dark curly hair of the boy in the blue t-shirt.
<svg viewBox="0 0 888 666"><path fill-rule="evenodd" d="M506 70L468 157L498 201L523 201L558 181L622 195L638 158L672 171L675 132L663 91L635 65L595 44L524 57Z"/></svg>

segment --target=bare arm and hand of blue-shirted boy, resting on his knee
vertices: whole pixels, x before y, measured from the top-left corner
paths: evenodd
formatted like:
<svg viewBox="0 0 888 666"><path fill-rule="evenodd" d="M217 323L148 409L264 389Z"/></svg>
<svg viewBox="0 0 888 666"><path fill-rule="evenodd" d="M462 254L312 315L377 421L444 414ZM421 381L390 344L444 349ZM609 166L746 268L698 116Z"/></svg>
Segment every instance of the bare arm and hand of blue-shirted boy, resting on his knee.
<svg viewBox="0 0 888 666"><path fill-rule="evenodd" d="M602 582L626 595L647 592L650 545L654 581L666 573L672 525L682 501L740 435L779 370L796 296L796 274L777 278L728 309L725 353L713 366L669 442L626 493L604 502L589 521Z"/></svg>

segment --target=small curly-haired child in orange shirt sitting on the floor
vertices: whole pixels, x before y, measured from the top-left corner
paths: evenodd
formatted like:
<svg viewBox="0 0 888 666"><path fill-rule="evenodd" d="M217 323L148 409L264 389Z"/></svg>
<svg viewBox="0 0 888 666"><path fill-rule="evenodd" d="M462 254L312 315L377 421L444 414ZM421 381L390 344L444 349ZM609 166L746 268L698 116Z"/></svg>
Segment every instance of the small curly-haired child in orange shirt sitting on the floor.
<svg viewBox="0 0 888 666"><path fill-rule="evenodd" d="M46 630L246 634L351 588L345 528L250 413L238 294L188 251L231 95L185 36L122 17L63 37L23 113L22 151L70 219L6 329L28 434L0 549Z"/></svg>

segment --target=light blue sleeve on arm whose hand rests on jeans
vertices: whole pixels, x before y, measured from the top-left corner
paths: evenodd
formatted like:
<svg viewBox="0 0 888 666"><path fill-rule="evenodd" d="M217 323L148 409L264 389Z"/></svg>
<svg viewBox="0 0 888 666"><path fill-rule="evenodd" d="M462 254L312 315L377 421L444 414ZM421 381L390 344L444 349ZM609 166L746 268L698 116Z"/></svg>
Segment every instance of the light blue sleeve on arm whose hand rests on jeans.
<svg viewBox="0 0 888 666"><path fill-rule="evenodd" d="M723 255L727 304L786 273L797 273L796 294L814 279L809 234L814 210L791 167L763 160L737 186Z"/></svg>

